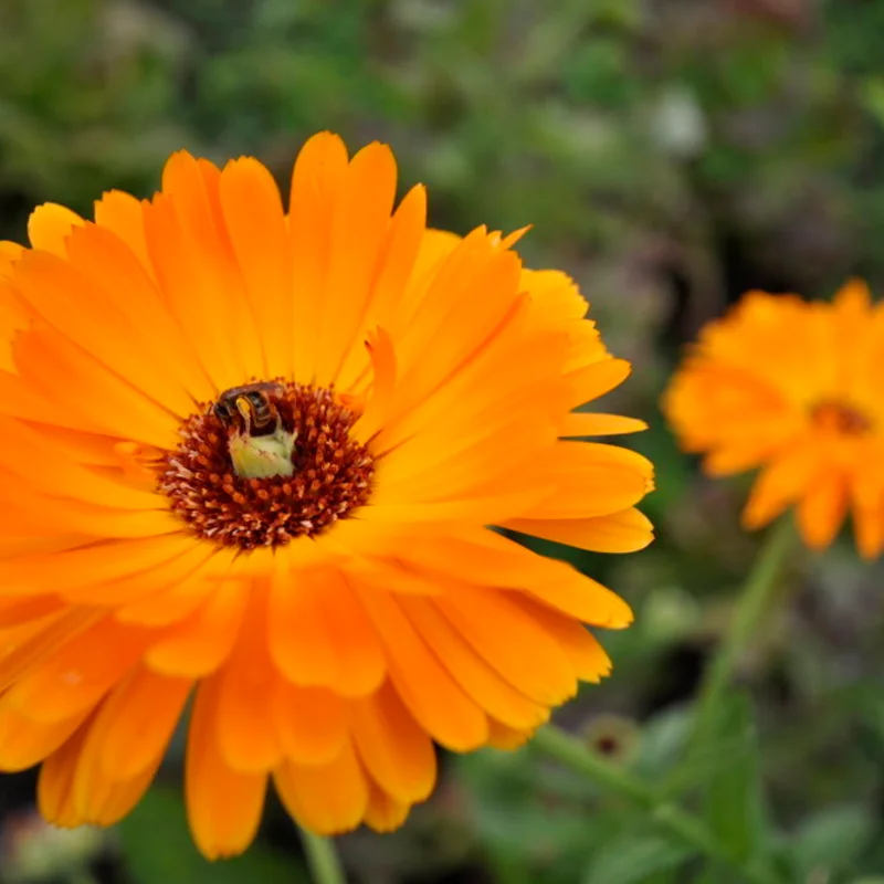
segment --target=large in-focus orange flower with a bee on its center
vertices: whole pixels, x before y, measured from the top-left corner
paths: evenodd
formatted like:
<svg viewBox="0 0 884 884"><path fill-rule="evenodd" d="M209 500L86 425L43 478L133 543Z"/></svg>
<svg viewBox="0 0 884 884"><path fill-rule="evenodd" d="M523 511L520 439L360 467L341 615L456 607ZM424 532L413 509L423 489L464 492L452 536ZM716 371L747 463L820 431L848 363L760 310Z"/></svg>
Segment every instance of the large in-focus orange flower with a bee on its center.
<svg viewBox="0 0 884 884"><path fill-rule="evenodd" d="M389 830L432 741L514 746L609 661L628 606L490 526L644 546L638 454L573 438L629 366L561 273L484 228L393 211L396 166L303 148L267 170L173 156L161 192L2 246L0 765L43 761L62 825L139 799L192 695L207 856L254 835L269 775L322 833ZM240 389L231 389L240 388Z"/></svg>

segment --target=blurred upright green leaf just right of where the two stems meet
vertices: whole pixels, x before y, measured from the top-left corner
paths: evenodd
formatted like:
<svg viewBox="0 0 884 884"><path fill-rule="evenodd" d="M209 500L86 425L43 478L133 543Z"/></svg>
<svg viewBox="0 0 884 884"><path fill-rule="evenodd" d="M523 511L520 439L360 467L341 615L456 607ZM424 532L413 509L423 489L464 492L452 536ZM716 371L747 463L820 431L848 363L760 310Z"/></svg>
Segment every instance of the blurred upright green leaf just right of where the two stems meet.
<svg viewBox="0 0 884 884"><path fill-rule="evenodd" d="M757 856L765 842L758 741L747 697L729 698L719 709L713 736L736 744L711 771L706 819L725 849L739 862Z"/></svg>

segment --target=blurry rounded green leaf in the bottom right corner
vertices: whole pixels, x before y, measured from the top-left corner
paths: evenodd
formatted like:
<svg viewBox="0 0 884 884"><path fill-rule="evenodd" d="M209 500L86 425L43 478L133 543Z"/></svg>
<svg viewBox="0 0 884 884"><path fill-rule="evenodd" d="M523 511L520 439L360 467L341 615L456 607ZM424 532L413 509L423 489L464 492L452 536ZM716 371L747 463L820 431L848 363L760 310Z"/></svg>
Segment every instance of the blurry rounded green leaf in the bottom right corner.
<svg viewBox="0 0 884 884"><path fill-rule="evenodd" d="M855 804L827 808L811 817L792 840L803 876L812 872L848 871L875 834L875 821Z"/></svg>

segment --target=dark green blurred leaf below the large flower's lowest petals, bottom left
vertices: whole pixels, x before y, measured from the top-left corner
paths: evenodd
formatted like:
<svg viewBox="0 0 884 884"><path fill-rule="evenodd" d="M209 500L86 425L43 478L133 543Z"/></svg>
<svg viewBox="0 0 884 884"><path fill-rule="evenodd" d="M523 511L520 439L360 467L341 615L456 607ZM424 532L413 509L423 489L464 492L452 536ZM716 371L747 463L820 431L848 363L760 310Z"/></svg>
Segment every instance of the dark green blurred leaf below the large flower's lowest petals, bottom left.
<svg viewBox="0 0 884 884"><path fill-rule="evenodd" d="M135 884L308 884L307 873L295 862L260 844L233 860L204 860L190 839L181 793L169 786L155 786L117 825L117 833Z"/></svg>

